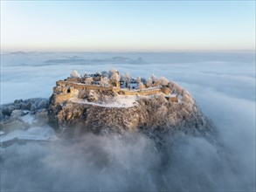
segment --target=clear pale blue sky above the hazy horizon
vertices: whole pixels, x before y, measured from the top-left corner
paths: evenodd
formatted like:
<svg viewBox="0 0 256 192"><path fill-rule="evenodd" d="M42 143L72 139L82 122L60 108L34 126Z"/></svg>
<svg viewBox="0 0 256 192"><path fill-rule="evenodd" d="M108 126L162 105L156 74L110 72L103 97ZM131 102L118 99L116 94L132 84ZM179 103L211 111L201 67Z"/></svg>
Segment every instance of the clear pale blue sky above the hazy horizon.
<svg viewBox="0 0 256 192"><path fill-rule="evenodd" d="M2 51L255 50L255 1L3 1Z"/></svg>

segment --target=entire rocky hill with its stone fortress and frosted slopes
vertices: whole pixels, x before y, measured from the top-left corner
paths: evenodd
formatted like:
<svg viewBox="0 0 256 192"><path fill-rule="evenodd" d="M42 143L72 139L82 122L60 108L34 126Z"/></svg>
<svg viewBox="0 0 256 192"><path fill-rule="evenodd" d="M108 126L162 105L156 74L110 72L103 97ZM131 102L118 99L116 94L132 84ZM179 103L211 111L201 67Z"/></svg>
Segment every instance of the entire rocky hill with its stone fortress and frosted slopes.
<svg viewBox="0 0 256 192"><path fill-rule="evenodd" d="M155 75L133 79L114 69L82 76L73 71L69 78L57 81L48 120L66 134L213 130L182 86Z"/></svg>

